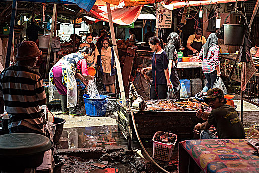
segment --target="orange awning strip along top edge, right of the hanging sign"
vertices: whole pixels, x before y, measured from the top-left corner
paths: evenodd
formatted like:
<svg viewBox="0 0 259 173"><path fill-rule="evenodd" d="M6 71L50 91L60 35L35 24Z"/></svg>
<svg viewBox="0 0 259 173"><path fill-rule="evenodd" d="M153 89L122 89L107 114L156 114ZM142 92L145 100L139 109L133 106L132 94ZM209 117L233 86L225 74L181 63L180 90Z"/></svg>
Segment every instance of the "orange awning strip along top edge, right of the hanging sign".
<svg viewBox="0 0 259 173"><path fill-rule="evenodd" d="M240 1L248 1L248 0L237 0L238 2ZM236 2L236 0L188 0L188 1L182 1L182 0L177 0L171 2L169 5L165 5L164 2L162 2L162 5L169 9L177 9L177 8L182 8L184 6L200 6L200 5L212 5L215 3L230 3L230 2Z"/></svg>

